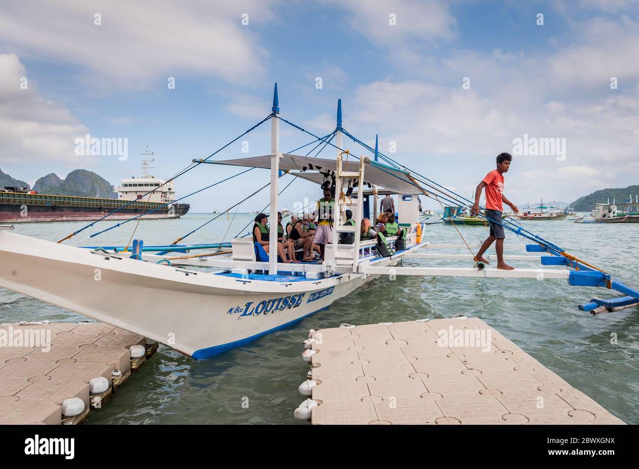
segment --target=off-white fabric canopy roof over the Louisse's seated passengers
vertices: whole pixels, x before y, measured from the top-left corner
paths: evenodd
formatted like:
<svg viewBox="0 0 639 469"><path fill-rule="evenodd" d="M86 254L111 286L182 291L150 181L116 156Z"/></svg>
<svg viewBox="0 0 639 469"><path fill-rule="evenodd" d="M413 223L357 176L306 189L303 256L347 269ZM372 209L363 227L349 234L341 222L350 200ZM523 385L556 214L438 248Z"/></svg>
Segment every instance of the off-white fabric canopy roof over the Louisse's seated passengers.
<svg viewBox="0 0 639 469"><path fill-rule="evenodd" d="M244 166L253 168L270 168L271 155L252 156L250 158L236 158L235 160L207 161L215 165ZM295 154L283 153L279 162L279 168L282 171L288 171L289 174L301 177L307 181L321 184L324 182L324 172L327 170L335 172L337 169L337 160L327 160L325 158L313 158L312 156L300 156ZM342 170L347 172L358 172L359 161L357 158L346 158L342 161ZM376 161L371 161L364 169L364 181L369 184L380 186L389 191L389 193L397 194L419 194L420 191L415 187L409 179L409 172L382 165Z"/></svg>

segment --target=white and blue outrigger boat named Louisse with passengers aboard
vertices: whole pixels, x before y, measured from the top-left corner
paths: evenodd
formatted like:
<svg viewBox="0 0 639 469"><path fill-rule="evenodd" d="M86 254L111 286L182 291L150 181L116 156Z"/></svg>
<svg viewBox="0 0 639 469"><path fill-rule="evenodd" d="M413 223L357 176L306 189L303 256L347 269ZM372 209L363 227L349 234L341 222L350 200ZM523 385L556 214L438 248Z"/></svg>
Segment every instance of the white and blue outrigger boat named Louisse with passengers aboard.
<svg viewBox="0 0 639 469"><path fill-rule="evenodd" d="M501 271L478 263L473 267L397 265L404 258L425 261L455 258L473 262L472 251L455 255L436 253L438 248L464 248L465 244L431 244L425 239L419 223L417 195L449 204L470 201L381 153L383 163L366 156L358 158L344 150L342 138L346 136L367 151L374 151L344 129L341 100L338 101L335 130L325 137L318 137L279 115L276 85L272 113L240 137L268 120L271 121L270 154L213 161L215 152L208 158L193 160L178 175L205 163L234 165L248 170L268 169L270 183L266 186L270 185L271 220L277 220L280 177L288 174L316 184L333 185L337 195L332 228L334 239L337 240L340 234L348 234L352 235L352 242L327 244L325 260L321 264L285 264L279 262L276 255L264 257L250 237L239 236L230 243L204 245L178 244L189 234L163 246L144 247L141 240L135 240L132 246L120 247L81 248L62 244L82 230L93 227L93 222L57 243L14 234L9 229L0 230L0 287L127 329L196 359L220 354L327 309L335 300L381 275L531 279L539 279L542 275L544 279L604 287L623 295L610 300L592 299L580 306L583 311L613 311L636 306L639 302L639 292L613 280L608 272L509 220L502 221L504 228L530 241L525 249L535 255L506 256L506 260L537 261L544 266L562 268ZM282 122L312 135L315 140L310 144L334 147L337 158L309 156L312 150L306 155L282 153L279 142ZM335 143L332 143L333 138ZM402 228L398 237L389 237L386 242L382 237L373 241L361 239L358 227L365 214L370 213L369 198L364 197L365 186L369 189L377 186L398 195ZM354 226L344 225L346 209L353 212ZM268 242L270 252L277 253L277 230L270 230ZM466 246L468 249L474 247ZM512 249L523 245L506 247ZM431 252L424 252L424 249ZM192 251L205 252L192 254Z"/></svg>

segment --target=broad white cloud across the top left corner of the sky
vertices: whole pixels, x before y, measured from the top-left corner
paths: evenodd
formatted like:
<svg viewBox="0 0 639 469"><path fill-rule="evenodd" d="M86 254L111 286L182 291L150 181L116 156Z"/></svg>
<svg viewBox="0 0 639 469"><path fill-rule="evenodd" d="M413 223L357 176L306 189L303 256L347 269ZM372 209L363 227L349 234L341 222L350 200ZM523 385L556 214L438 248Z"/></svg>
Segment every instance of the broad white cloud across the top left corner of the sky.
<svg viewBox="0 0 639 469"><path fill-rule="evenodd" d="M93 86L144 87L188 73L248 83L265 70L255 31L275 19L273 1L5 2L0 44L80 66ZM94 24L96 13L101 26ZM249 26L242 26L243 13Z"/></svg>

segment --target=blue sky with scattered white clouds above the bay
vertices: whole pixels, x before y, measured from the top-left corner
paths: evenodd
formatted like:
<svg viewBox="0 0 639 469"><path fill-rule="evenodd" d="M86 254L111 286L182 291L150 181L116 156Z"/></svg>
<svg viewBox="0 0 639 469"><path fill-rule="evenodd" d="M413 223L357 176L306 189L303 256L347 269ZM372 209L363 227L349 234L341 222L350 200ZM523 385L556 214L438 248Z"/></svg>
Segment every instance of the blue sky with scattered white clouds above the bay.
<svg viewBox="0 0 639 469"><path fill-rule="evenodd" d="M148 146L171 177L270 114L277 82L284 119L326 135L341 98L346 130L465 197L507 151L512 202L570 202L639 181L637 57L637 0L0 0L0 168L117 185ZM86 134L127 139L127 158L77 154ZM281 124L281 151L310 140ZM268 153L270 123L212 159ZM183 197L240 170L201 165L174 186ZM183 202L226 210L269 175ZM280 205L318 197L296 181ZM262 191L239 211L267 203Z"/></svg>

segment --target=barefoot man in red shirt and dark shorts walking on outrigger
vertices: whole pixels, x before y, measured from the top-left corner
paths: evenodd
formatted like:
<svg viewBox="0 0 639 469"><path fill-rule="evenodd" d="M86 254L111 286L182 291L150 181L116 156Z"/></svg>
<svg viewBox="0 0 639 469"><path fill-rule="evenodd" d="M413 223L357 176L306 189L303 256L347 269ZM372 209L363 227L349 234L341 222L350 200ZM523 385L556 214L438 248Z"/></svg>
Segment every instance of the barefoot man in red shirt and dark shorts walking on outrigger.
<svg viewBox="0 0 639 469"><path fill-rule="evenodd" d="M504 195L504 173L508 172L511 167L512 156L510 153L500 153L497 155L497 169L492 170L486 177L482 179L475 190L475 204L472 207L472 213L477 214L479 212L479 197L481 197L481 191L486 188L486 212L484 214L489 220L495 220L502 223L502 203L509 205L512 211L517 213L519 209L516 205L512 204L510 200ZM490 223L490 235L481 245L479 252L475 256L477 262L484 262L484 264L490 264L482 256L486 252L486 249L495 243L495 251L497 252L497 269L504 271L512 271L514 267L504 262L504 227L498 223Z"/></svg>

